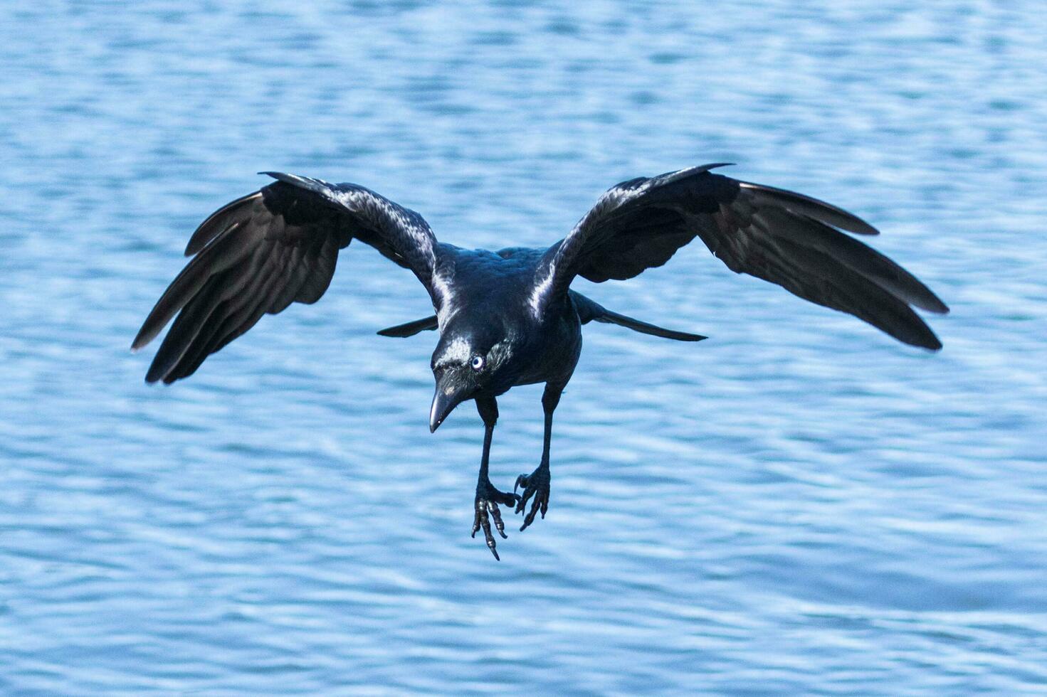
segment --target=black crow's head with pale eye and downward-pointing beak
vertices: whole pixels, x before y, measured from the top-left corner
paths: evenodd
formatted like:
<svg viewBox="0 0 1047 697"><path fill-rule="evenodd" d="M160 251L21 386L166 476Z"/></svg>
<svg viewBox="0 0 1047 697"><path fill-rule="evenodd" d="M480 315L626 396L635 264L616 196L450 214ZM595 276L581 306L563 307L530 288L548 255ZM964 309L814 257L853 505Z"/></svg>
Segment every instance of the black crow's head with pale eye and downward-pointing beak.
<svg viewBox="0 0 1047 697"><path fill-rule="evenodd" d="M492 331L445 332L432 352L437 394L429 410L429 430L437 430L462 402L485 391L504 391L499 378L512 353L511 339Z"/></svg>

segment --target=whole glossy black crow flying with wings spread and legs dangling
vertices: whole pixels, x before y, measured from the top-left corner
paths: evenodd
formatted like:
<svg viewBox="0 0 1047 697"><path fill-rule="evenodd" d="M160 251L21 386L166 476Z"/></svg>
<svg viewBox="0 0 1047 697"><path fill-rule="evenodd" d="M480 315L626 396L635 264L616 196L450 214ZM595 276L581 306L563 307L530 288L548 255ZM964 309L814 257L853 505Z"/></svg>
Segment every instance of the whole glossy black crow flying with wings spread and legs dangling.
<svg viewBox="0 0 1047 697"><path fill-rule="evenodd" d="M262 173L276 181L223 206L197 228L185 248L192 261L131 347L148 344L177 315L146 381L186 378L263 314L318 300L338 252L354 239L374 247L415 274L436 311L378 332L407 337L439 330L429 430L468 400L484 422L472 535L483 530L498 559L491 532L493 520L506 537L498 505L525 514L521 531L549 509L553 411L578 363L582 325L605 322L680 341L706 338L606 310L571 290L577 276L596 283L632 278L699 238L736 273L854 315L905 343L941 348L913 307L946 313L945 305L911 273L842 231L870 235L875 228L828 203L712 172L723 164L624 181L551 247L499 251L438 242L420 215L357 184ZM496 398L535 383L544 383L541 460L516 478L513 493L504 492L488 476Z"/></svg>

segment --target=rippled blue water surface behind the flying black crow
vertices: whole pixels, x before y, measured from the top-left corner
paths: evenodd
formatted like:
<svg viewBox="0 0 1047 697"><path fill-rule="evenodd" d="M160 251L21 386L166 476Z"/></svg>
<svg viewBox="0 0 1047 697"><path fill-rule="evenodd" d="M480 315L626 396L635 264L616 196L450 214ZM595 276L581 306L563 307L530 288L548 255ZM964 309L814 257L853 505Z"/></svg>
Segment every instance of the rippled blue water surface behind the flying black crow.
<svg viewBox="0 0 1047 697"><path fill-rule="evenodd" d="M1047 692L1040 4L557 5L4 3L0 693ZM362 245L172 388L128 352L260 170L496 248L722 160L878 226L944 351L698 247L581 284L712 338L586 328L502 563L478 418L426 427L433 335L374 335L425 294ZM500 400L499 486L539 395Z"/></svg>

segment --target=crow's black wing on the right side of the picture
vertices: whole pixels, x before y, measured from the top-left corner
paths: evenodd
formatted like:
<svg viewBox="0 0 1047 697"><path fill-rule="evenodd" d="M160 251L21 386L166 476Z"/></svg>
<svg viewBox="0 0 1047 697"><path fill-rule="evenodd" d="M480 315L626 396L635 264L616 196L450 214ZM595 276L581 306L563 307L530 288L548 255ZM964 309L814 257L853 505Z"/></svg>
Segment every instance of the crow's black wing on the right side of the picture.
<svg viewBox="0 0 1047 697"><path fill-rule="evenodd" d="M713 174L706 164L608 189L545 253L532 296L537 309L581 275L601 283L662 266L695 237L736 273L840 310L909 344L941 342L910 306L949 308L911 273L840 230L877 234L833 205ZM839 228L839 229L838 229Z"/></svg>

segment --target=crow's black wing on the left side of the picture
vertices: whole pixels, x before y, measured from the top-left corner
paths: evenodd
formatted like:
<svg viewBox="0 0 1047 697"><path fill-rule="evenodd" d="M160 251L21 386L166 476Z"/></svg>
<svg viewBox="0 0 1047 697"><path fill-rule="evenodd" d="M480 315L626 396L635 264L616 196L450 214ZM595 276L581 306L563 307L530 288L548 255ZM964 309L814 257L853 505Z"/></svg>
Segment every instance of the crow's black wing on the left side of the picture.
<svg viewBox="0 0 1047 697"><path fill-rule="evenodd" d="M414 271L439 307L432 284L437 240L421 216L356 184L263 174L277 181L225 205L197 228L185 248L193 261L131 344L141 348L178 314L147 382L191 376L263 314L318 300L338 250L354 238Z"/></svg>

